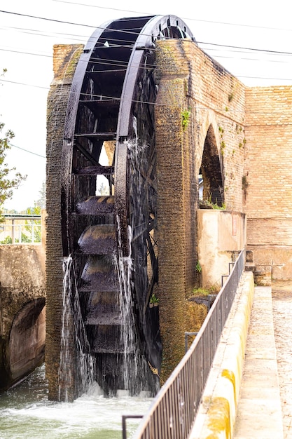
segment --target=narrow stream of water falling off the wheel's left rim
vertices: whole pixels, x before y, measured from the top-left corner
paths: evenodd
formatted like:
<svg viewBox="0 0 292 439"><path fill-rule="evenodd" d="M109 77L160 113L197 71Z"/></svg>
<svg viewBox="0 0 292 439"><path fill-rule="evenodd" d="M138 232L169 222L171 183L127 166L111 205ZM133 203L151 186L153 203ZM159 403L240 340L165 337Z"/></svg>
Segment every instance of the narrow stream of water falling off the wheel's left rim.
<svg viewBox="0 0 292 439"><path fill-rule="evenodd" d="M71 255L64 260L63 269L58 399L68 402L88 391L92 385L95 377L95 359L90 355Z"/></svg>

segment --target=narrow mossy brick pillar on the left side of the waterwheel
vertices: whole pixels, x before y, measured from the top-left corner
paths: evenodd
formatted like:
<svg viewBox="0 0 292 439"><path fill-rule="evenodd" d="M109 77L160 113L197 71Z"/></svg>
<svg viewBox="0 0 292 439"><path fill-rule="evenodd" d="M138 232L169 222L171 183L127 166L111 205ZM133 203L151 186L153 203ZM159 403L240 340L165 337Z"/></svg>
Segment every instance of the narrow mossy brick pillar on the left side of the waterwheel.
<svg viewBox="0 0 292 439"><path fill-rule="evenodd" d="M54 46L54 79L47 107L47 256L46 256L46 375L49 398L58 399L62 330L63 251L61 230L61 165L64 120L71 82L82 53L81 45Z"/></svg>

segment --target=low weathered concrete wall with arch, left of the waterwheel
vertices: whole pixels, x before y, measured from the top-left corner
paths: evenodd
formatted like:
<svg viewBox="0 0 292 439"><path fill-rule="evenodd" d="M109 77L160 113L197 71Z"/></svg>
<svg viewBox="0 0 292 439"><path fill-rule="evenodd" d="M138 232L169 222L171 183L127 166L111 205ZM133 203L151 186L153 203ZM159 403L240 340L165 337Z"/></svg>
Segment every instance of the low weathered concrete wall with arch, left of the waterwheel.
<svg viewBox="0 0 292 439"><path fill-rule="evenodd" d="M0 245L0 391L44 360L45 236L40 245Z"/></svg>

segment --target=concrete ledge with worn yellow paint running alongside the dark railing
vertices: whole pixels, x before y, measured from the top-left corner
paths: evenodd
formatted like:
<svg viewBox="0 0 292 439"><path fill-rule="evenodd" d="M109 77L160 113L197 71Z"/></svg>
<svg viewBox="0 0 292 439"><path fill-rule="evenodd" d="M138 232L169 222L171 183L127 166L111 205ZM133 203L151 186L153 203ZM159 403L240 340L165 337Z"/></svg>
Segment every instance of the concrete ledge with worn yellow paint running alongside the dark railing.
<svg viewBox="0 0 292 439"><path fill-rule="evenodd" d="M242 274L190 439L232 438L253 304L253 274Z"/></svg>

